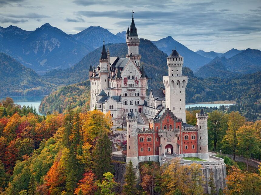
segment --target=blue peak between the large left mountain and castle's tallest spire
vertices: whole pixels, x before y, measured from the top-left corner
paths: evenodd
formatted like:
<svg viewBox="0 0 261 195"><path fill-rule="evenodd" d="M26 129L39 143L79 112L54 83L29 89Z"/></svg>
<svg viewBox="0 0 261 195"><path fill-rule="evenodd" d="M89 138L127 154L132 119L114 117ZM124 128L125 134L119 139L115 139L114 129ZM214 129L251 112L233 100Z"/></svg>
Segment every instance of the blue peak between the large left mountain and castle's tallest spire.
<svg viewBox="0 0 261 195"><path fill-rule="evenodd" d="M90 26L89 28L86 28L77 34L71 34L71 36L76 40L88 45L91 50L102 46L103 39L105 44L126 42L125 38L116 36L115 34L112 34L110 31L100 26Z"/></svg>

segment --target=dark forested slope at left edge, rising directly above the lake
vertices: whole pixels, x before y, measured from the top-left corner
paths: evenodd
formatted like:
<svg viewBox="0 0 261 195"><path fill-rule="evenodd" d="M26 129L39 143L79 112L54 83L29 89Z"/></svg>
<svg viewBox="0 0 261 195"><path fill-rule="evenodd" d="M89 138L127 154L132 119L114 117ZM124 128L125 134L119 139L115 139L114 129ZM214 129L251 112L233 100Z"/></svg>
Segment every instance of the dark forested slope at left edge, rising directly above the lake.
<svg viewBox="0 0 261 195"><path fill-rule="evenodd" d="M55 87L4 53L0 53L0 75L0 96L46 95Z"/></svg>

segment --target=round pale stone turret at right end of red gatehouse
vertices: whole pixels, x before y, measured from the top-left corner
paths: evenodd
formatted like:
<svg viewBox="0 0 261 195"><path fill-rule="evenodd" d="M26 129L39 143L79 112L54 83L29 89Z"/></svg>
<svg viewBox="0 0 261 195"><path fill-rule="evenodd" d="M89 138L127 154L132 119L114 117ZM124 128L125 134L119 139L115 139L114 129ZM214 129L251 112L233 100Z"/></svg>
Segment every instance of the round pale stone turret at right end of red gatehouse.
<svg viewBox="0 0 261 195"><path fill-rule="evenodd" d="M198 125L198 158L208 161L208 114L201 109L196 117Z"/></svg>

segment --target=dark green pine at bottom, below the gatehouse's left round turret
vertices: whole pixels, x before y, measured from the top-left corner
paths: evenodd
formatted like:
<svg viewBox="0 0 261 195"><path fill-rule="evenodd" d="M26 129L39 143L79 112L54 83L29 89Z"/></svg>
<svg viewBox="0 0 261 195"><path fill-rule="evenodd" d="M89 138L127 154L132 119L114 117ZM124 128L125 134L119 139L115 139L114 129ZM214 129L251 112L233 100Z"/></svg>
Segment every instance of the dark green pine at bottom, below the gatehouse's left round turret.
<svg viewBox="0 0 261 195"><path fill-rule="evenodd" d="M129 161L126 166L125 184L123 186L123 193L125 195L136 194L136 175L134 172L132 161Z"/></svg>

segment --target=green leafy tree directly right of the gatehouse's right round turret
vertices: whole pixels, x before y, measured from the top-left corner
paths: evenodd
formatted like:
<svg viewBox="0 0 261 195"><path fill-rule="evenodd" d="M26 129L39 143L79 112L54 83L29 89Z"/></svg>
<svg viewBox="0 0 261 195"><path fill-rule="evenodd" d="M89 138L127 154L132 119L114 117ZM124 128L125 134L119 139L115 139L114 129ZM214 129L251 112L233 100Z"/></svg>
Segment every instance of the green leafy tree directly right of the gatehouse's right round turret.
<svg viewBox="0 0 261 195"><path fill-rule="evenodd" d="M213 150L216 151L217 143L222 141L227 129L228 115L218 110L208 115L208 141L213 142Z"/></svg>

